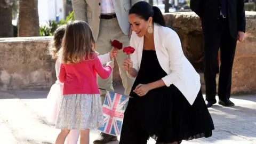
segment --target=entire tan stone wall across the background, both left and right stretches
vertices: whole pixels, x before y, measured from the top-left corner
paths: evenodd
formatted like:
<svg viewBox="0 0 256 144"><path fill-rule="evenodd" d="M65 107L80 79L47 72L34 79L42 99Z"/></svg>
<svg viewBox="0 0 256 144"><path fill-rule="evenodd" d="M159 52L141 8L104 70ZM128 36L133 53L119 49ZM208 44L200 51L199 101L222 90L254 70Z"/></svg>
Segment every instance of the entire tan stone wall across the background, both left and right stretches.
<svg viewBox="0 0 256 144"><path fill-rule="evenodd" d="M186 57L204 78L203 33L201 20L194 12L164 14L167 25L180 36ZM256 12L246 12L246 38L237 43L233 67L232 93L256 93ZM49 89L55 82L54 61L46 47L52 37L0 38L0 89ZM120 84L118 67L114 84ZM218 77L217 77L218 79Z"/></svg>

